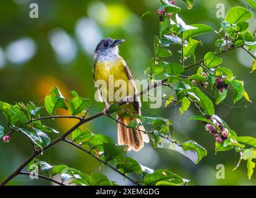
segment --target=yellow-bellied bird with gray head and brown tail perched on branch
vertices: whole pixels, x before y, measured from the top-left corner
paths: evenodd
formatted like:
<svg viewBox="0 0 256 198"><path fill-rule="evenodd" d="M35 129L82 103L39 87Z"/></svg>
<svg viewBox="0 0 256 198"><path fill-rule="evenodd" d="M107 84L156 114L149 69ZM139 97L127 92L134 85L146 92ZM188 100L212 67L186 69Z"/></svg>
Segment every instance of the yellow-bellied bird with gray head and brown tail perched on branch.
<svg viewBox="0 0 256 198"><path fill-rule="evenodd" d="M120 116L124 113L141 114L140 98L138 97L133 101L128 100L138 91L126 61L119 56L119 45L124 41L124 39L104 38L98 43L94 51L93 79L98 90L99 100L105 103L106 110L113 103L121 101L121 99L126 101L122 105L122 110L117 111L117 142L119 145L127 145L127 150L139 151L144 147L144 142L149 142L149 136L145 133L144 126L142 126L138 118ZM106 84L103 86L98 82L106 82ZM124 84L121 85L121 88L114 87L117 82L124 82ZM111 95L115 94L109 88L111 86L114 87L115 93L121 89L123 95L117 93L120 98L111 98ZM127 127L131 122L137 123L139 127Z"/></svg>

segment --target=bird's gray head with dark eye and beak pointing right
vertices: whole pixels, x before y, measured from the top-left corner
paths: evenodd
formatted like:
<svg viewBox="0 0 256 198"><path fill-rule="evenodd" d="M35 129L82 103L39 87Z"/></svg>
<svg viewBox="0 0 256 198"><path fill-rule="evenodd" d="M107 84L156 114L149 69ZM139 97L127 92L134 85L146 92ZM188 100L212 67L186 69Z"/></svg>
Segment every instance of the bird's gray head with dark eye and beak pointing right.
<svg viewBox="0 0 256 198"><path fill-rule="evenodd" d="M118 55L118 45L122 42L124 42L124 39L114 40L113 38L104 38L99 42L94 51L94 59Z"/></svg>

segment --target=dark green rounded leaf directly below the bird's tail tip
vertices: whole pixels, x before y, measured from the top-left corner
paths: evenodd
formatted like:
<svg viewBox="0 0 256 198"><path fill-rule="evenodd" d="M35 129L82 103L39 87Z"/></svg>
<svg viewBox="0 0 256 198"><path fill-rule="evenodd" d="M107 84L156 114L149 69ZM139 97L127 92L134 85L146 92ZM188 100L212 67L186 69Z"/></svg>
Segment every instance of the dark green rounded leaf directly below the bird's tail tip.
<svg viewBox="0 0 256 198"><path fill-rule="evenodd" d="M130 157L124 157L121 160L121 163L119 163L116 166L117 169L122 168L124 173L138 173L142 174L142 168L138 161L134 160Z"/></svg>

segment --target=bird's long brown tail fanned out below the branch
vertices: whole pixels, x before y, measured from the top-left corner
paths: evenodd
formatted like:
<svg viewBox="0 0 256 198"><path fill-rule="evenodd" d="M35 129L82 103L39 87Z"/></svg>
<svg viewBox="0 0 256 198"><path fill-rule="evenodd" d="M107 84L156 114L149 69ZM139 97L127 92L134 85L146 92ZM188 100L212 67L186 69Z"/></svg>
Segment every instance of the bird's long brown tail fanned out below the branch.
<svg viewBox="0 0 256 198"><path fill-rule="evenodd" d="M128 128L130 122L134 120L137 124L140 123L139 119L123 117L119 118L117 124L117 139L119 145L127 145L128 150L139 151L144 147L144 142L149 142L149 136L142 131L145 131L144 126L139 126L139 130Z"/></svg>

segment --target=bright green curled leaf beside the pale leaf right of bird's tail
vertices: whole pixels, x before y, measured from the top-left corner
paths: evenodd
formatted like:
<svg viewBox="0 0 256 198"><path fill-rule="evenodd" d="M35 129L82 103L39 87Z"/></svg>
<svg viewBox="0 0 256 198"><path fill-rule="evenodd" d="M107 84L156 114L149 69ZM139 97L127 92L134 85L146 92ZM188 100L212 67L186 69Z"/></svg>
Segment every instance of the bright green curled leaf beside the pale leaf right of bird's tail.
<svg viewBox="0 0 256 198"><path fill-rule="evenodd" d="M204 147L202 147L201 145L197 144L196 142L194 142L193 140L189 140L188 142L184 142L182 144L182 148L184 150L194 150L198 156L197 159L191 159L192 161L194 161L194 163L198 163L203 157L205 157L207 155L207 150L204 149Z"/></svg>

